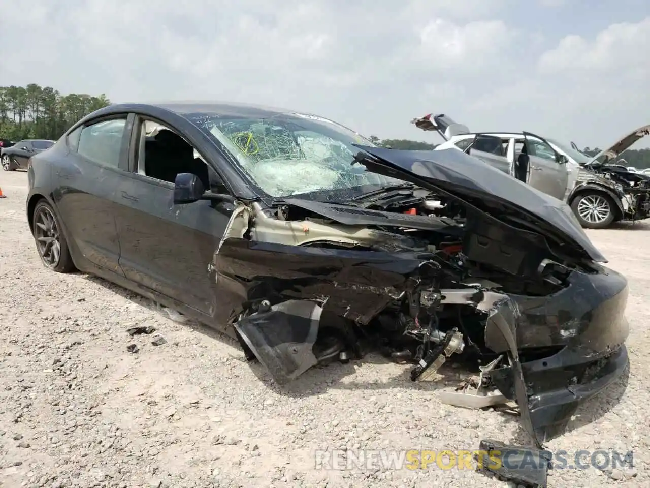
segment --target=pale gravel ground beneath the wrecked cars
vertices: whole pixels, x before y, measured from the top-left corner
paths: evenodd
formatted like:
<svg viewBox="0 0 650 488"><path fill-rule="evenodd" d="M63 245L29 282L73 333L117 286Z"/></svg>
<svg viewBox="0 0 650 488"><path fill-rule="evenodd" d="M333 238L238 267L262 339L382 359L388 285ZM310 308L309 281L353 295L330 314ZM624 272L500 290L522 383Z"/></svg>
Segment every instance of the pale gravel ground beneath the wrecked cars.
<svg viewBox="0 0 650 488"><path fill-rule="evenodd" d="M47 271L27 228L27 174L1 172L0 187L1 486L504 486L458 469L315 469L315 449L471 450L522 431L505 414L439 403L435 389L463 374L451 366L439 383L413 384L409 366L367 357L278 388L227 338L98 278ZM629 278L630 373L547 446L633 450L635 467L555 470L549 486L647 487L650 224L590 237ZM167 343L129 337L134 325Z"/></svg>

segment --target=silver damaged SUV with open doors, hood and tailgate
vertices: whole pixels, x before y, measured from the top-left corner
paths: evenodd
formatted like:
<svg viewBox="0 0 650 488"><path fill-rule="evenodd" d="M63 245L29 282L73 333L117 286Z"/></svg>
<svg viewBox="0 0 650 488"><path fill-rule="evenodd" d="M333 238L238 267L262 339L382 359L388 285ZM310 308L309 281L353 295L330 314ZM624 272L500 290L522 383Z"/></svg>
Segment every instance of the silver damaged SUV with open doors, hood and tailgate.
<svg viewBox="0 0 650 488"><path fill-rule="evenodd" d="M616 165L617 157L650 134L643 126L597 156L529 132L472 133L448 116L426 115L411 121L437 131L445 142L435 150L456 148L482 159L547 195L564 200L586 228L650 218L650 176Z"/></svg>

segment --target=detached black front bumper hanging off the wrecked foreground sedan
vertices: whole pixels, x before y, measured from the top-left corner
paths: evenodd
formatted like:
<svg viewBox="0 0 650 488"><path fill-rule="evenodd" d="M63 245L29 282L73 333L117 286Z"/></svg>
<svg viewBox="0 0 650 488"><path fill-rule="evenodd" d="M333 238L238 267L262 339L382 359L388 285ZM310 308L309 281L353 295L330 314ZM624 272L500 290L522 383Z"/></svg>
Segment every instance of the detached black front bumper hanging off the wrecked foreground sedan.
<svg viewBox="0 0 650 488"><path fill-rule="evenodd" d="M524 357L521 377L525 396L519 384L520 368L513 365L489 372L491 383L506 398L517 400L538 447L548 427L562 424L580 401L610 385L628 365L625 340L629 324L624 312L629 290L625 277L611 269L591 274L573 271L568 282L549 297L510 297L521 314L517 327L510 331ZM489 329L486 344L496 352L512 351L512 342L502 342L500 334ZM556 352L526 359L529 352L541 347Z"/></svg>

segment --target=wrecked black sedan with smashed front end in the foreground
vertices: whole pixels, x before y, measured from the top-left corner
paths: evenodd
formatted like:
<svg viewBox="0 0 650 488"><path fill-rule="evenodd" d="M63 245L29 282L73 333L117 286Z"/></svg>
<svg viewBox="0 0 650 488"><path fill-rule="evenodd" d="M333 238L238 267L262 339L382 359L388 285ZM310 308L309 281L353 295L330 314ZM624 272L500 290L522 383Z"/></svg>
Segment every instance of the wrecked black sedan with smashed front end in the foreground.
<svg viewBox="0 0 650 488"><path fill-rule="evenodd" d="M28 174L45 266L225 331L280 384L369 347L413 380L456 353L491 363L483 385L538 442L628 363L627 280L571 208L457 150L279 109L126 104Z"/></svg>

